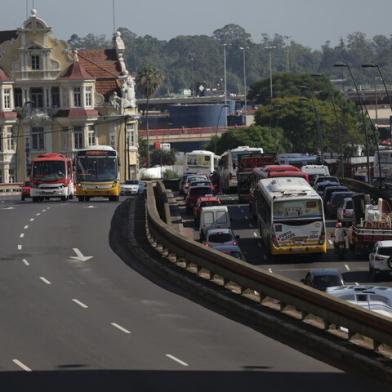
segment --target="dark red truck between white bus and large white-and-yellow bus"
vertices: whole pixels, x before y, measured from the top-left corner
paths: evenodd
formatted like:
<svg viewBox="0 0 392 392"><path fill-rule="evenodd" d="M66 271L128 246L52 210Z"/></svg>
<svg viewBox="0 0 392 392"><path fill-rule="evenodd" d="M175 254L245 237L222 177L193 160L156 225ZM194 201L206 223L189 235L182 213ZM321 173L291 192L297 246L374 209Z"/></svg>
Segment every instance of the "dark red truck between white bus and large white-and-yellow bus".
<svg viewBox="0 0 392 392"><path fill-rule="evenodd" d="M238 157L237 193L240 203L247 203L249 201L250 180L253 169L255 167L272 165L275 161L276 154L274 153L250 152Z"/></svg>

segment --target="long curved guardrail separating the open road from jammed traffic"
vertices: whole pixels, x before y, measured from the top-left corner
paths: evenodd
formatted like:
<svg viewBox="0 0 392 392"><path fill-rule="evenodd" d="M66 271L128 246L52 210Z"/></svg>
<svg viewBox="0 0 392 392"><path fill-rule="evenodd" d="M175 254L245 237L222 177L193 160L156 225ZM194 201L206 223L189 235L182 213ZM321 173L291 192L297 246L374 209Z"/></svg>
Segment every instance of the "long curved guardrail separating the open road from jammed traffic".
<svg viewBox="0 0 392 392"><path fill-rule="evenodd" d="M207 273L207 278L215 283L223 282L226 287L235 283L239 287L239 294L262 305L272 300L278 310L287 314L294 312L292 315L304 322L310 323L315 316L321 321L319 327L334 335L356 343L358 339L353 339L354 336L363 338L364 341L370 338L372 349L381 353L392 348L391 319L283 276L255 269L241 260L204 247L176 232L159 216L153 183L149 183L147 187L146 214L150 241L172 262L198 275ZM342 330L347 333L342 334Z"/></svg>

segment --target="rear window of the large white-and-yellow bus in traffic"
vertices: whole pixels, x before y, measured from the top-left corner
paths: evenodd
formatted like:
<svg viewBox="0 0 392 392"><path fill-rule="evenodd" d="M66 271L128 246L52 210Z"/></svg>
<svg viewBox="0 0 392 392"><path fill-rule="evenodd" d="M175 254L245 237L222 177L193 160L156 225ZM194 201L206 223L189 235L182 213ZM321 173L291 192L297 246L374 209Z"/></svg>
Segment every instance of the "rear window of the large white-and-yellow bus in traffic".
<svg viewBox="0 0 392 392"><path fill-rule="evenodd" d="M322 219L321 201L314 199L276 201L273 206L274 221L296 218Z"/></svg>

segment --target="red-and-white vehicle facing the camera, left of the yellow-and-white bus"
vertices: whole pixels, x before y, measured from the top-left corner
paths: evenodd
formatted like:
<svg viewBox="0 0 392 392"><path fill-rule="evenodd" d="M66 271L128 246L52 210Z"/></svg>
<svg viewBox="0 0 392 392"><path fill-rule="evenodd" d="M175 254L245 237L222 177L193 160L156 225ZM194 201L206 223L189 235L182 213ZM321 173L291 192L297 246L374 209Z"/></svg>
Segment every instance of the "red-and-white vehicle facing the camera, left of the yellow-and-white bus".
<svg viewBox="0 0 392 392"><path fill-rule="evenodd" d="M74 195L72 159L59 153L39 154L31 162L31 198L33 202Z"/></svg>

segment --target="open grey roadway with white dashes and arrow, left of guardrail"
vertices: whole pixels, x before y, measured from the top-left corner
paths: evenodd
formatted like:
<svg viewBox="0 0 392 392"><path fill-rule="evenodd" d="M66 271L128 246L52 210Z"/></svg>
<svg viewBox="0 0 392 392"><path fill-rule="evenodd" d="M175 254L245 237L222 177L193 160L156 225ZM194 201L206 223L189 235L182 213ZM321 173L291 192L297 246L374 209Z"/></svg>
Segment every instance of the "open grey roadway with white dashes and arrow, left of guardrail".
<svg viewBox="0 0 392 392"><path fill-rule="evenodd" d="M1 390L378 390L134 271L119 205L0 199Z"/></svg>

